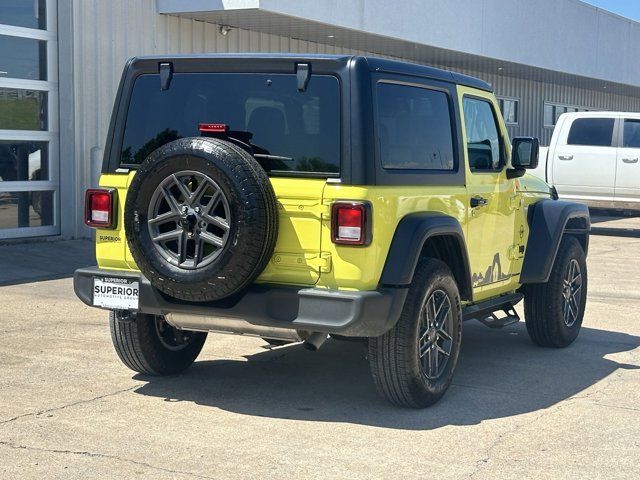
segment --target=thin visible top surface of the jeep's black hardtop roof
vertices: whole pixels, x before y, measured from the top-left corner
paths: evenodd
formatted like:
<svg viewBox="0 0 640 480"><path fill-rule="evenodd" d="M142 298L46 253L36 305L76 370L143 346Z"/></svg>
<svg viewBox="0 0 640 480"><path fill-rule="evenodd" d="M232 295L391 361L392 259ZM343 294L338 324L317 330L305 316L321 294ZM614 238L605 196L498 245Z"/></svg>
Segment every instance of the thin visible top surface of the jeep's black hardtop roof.
<svg viewBox="0 0 640 480"><path fill-rule="evenodd" d="M477 88L480 90L486 90L493 92L493 87L476 77L464 75L462 73L450 72L440 68L428 67L426 65L419 65L417 63L404 62L399 60L388 60L379 57L369 57L360 55L329 55L322 53L215 53L215 54L189 54L189 55L171 55L171 56L144 56L136 57L135 60L157 60L157 61L171 61L175 60L215 60L225 59L239 61L246 61L248 59L255 58L262 61L273 59L283 60L291 59L294 61L313 61L313 60L329 60L337 63L347 64L353 59L361 59L365 61L371 71L375 72L387 72L397 73L400 75L413 75L419 77L433 78L436 80L442 80L445 82L452 82L458 85L464 85L467 87Z"/></svg>

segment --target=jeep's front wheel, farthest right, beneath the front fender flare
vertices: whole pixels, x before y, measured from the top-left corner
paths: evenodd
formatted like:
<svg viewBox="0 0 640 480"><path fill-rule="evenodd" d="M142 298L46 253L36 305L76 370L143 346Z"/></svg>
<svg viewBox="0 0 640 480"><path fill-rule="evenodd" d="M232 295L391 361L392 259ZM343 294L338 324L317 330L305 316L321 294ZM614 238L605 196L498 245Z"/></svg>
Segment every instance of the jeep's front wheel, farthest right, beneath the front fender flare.
<svg viewBox="0 0 640 480"><path fill-rule="evenodd" d="M566 236L549 281L526 287L524 315L531 340L554 348L573 343L580 333L586 301L586 256L578 240Z"/></svg>

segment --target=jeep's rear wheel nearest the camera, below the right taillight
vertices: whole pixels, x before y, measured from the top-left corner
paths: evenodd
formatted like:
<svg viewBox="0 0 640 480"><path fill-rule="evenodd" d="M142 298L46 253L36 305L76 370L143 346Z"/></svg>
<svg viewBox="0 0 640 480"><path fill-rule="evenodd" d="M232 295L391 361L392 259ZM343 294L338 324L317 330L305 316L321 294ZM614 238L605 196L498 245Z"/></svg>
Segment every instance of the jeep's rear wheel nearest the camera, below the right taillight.
<svg viewBox="0 0 640 480"><path fill-rule="evenodd" d="M461 340L458 286L445 263L428 258L416 269L398 323L369 339L378 391L398 406L436 403L453 378Z"/></svg>

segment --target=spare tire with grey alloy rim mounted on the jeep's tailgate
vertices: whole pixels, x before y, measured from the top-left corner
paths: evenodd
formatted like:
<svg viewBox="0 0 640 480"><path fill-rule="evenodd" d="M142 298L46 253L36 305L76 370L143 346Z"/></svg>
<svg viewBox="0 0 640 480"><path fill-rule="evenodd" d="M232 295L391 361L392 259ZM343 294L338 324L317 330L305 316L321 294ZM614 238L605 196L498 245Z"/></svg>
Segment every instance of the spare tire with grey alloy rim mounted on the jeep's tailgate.
<svg viewBox="0 0 640 480"><path fill-rule="evenodd" d="M131 255L161 292L221 300L241 291L273 254L278 211L252 155L215 138L183 138L155 150L127 192Z"/></svg>

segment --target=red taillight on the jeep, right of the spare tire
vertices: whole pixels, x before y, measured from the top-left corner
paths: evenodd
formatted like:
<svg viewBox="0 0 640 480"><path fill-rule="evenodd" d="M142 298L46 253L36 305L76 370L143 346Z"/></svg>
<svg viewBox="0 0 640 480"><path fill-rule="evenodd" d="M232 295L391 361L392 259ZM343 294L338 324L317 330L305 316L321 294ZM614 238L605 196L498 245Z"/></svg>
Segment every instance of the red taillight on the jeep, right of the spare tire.
<svg viewBox="0 0 640 480"><path fill-rule="evenodd" d="M335 202L331 208L331 240L340 245L371 243L371 205Z"/></svg>

